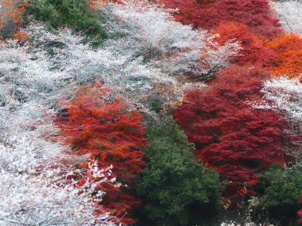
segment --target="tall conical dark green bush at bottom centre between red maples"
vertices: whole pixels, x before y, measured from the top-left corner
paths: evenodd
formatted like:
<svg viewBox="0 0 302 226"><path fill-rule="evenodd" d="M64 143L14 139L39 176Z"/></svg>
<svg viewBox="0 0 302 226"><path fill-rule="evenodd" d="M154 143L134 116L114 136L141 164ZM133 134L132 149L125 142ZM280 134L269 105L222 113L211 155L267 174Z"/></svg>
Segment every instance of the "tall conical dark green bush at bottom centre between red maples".
<svg viewBox="0 0 302 226"><path fill-rule="evenodd" d="M137 191L150 225L210 225L203 223L219 208L219 175L195 161L193 144L172 117L148 128L146 135L147 167Z"/></svg>

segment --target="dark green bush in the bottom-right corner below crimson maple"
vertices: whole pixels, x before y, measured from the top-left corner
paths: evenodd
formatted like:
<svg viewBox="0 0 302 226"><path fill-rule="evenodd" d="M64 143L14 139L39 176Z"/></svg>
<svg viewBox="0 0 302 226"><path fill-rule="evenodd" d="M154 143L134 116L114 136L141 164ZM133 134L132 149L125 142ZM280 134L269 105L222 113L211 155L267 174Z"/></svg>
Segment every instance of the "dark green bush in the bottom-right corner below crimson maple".
<svg viewBox="0 0 302 226"><path fill-rule="evenodd" d="M302 170L272 165L259 180L264 190L259 200L259 217L269 217L279 225L295 225L302 196Z"/></svg>

